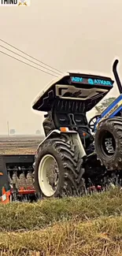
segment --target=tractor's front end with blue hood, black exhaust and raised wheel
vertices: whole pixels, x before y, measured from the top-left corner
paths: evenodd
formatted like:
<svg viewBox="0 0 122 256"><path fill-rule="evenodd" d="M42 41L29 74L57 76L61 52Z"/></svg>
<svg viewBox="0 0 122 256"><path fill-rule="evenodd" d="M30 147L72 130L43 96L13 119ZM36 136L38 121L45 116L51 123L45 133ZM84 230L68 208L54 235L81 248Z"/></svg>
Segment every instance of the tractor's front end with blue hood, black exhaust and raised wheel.
<svg viewBox="0 0 122 256"><path fill-rule="evenodd" d="M120 96L96 117L94 128L92 126L98 159L110 170L122 169L122 85L116 71L117 64L118 60L113 64L113 73Z"/></svg>

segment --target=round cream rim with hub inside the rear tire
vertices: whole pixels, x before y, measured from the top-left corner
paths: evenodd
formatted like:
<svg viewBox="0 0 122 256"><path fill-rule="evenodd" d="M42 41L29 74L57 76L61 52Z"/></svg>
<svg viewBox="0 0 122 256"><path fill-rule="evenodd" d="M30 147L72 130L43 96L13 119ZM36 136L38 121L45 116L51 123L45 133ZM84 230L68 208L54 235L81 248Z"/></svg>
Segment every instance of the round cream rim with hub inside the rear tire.
<svg viewBox="0 0 122 256"><path fill-rule="evenodd" d="M46 197L53 196L58 184L58 165L51 154L43 156L39 163L39 187Z"/></svg>

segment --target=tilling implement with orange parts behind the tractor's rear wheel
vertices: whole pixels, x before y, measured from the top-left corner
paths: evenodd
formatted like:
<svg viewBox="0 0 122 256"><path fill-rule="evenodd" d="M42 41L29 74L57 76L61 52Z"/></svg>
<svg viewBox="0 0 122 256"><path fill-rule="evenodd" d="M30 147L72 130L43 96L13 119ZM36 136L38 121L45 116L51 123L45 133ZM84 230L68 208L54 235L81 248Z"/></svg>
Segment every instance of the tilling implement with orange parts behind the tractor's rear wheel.
<svg viewBox="0 0 122 256"><path fill-rule="evenodd" d="M34 155L0 156L0 201L36 201Z"/></svg>

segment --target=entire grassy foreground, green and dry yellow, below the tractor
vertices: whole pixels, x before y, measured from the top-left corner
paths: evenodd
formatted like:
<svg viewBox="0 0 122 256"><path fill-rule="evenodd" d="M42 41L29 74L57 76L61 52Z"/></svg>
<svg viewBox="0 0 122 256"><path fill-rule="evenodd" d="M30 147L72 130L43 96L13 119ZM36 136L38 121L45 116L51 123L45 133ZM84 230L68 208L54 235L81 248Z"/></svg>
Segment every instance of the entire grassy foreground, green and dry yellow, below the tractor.
<svg viewBox="0 0 122 256"><path fill-rule="evenodd" d="M0 255L122 255L122 191L0 205Z"/></svg>

